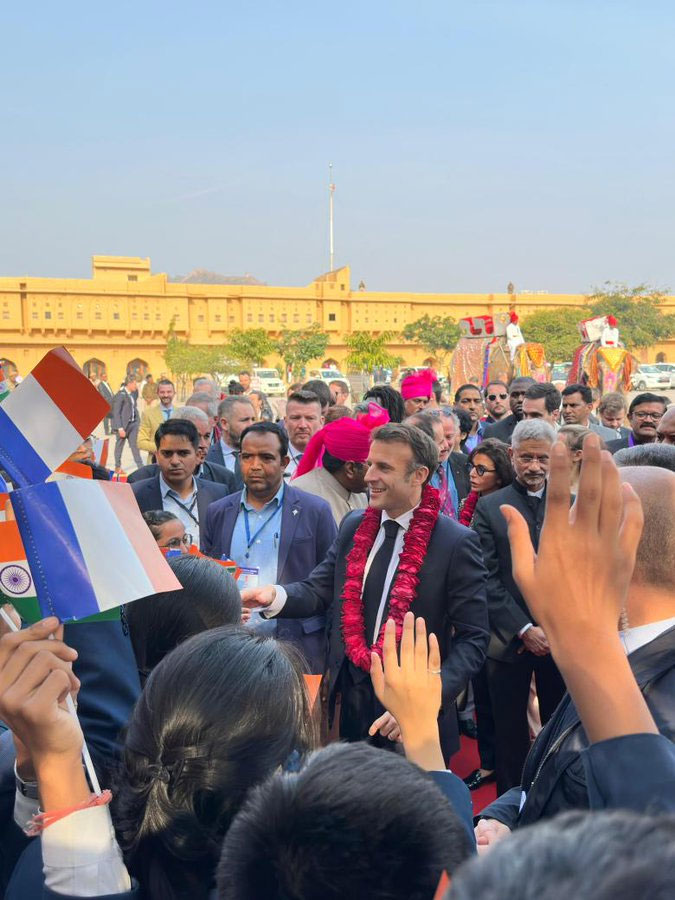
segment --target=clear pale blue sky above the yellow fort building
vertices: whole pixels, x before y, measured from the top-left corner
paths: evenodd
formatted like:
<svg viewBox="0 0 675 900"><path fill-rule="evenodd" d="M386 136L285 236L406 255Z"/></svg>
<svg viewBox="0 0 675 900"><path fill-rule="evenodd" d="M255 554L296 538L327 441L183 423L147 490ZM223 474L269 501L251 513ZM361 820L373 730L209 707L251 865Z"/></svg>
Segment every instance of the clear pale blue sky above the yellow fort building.
<svg viewBox="0 0 675 900"><path fill-rule="evenodd" d="M0 12L0 275L675 289L670 0Z"/></svg>

